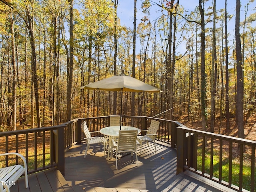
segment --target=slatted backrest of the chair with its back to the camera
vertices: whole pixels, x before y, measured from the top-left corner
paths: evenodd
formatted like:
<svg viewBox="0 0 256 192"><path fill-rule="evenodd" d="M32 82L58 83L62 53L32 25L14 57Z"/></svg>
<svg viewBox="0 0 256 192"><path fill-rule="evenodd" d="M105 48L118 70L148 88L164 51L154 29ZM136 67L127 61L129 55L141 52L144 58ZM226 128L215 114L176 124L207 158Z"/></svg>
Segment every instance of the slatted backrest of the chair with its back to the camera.
<svg viewBox="0 0 256 192"><path fill-rule="evenodd" d="M120 130L117 151L136 150L137 130Z"/></svg>

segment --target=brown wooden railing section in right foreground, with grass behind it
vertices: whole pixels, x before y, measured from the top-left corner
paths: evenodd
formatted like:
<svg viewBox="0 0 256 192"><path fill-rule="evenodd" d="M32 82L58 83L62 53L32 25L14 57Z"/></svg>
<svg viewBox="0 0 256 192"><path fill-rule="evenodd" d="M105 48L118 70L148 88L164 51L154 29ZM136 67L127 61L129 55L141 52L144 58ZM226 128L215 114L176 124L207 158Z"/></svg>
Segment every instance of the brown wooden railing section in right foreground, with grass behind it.
<svg viewBox="0 0 256 192"><path fill-rule="evenodd" d="M256 141L177 127L177 174L189 170L236 191L256 191Z"/></svg>

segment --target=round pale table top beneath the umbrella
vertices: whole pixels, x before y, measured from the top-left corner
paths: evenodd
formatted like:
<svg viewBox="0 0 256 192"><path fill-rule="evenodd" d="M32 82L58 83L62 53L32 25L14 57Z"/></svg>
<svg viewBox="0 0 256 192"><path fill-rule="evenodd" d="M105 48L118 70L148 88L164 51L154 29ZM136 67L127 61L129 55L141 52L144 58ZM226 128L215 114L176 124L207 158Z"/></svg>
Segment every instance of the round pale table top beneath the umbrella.
<svg viewBox="0 0 256 192"><path fill-rule="evenodd" d="M112 136L112 137L118 137L119 136L119 130L120 126L109 126L104 127L100 130L101 134ZM132 126L121 126L121 130L138 130L138 133L140 133L140 129Z"/></svg>

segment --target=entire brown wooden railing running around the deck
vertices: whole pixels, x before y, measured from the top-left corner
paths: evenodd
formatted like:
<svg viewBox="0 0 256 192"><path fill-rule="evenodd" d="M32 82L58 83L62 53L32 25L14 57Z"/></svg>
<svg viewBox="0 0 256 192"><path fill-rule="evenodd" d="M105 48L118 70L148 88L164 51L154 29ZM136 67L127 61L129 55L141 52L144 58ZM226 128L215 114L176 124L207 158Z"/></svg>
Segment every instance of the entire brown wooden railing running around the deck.
<svg viewBox="0 0 256 192"><path fill-rule="evenodd" d="M0 132L0 151L18 152L25 156L29 174L57 167L64 175L65 151L84 140L82 122L87 122L90 131L98 131L110 125L109 117L79 118L58 126ZM160 122L156 139L177 149L177 174L188 170L237 191L244 188L256 191L255 141L202 132L176 121L146 116L123 116L122 123L148 129L151 119ZM240 150L237 154L234 149L238 146ZM246 153L246 156L244 150L249 150L249 155ZM0 158L0 163L2 166L18 164L18 158ZM237 170L235 166L238 166L238 173L234 172ZM250 178L247 178L248 175ZM246 180L250 180L249 186L246 186Z"/></svg>

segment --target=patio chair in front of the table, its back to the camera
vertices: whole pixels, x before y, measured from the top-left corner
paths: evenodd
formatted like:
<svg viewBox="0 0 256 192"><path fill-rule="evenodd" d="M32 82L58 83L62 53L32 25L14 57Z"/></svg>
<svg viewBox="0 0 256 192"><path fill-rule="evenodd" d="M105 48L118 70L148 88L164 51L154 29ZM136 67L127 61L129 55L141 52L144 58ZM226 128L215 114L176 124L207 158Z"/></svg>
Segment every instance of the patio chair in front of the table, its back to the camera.
<svg viewBox="0 0 256 192"><path fill-rule="evenodd" d="M116 144L115 140L112 139L112 146L113 148L116 148L116 169L117 167L117 159L118 159L118 153L121 152L131 152L131 156L133 156L133 153L136 154L136 163L138 166L138 156L137 156L137 130L120 130L119 136L118 136L118 143Z"/></svg>

